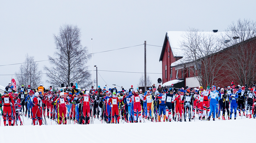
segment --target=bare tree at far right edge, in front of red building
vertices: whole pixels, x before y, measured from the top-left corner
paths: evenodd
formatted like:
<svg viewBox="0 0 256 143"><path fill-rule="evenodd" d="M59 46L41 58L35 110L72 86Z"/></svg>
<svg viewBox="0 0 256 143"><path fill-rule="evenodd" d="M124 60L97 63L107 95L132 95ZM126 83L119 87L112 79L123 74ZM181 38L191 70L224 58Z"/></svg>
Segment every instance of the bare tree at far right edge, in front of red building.
<svg viewBox="0 0 256 143"><path fill-rule="evenodd" d="M232 47L227 51L228 59L231 66L227 68L232 71L233 80L240 84L252 86L256 79L256 22L250 19L238 19L226 29L223 36L225 45Z"/></svg>

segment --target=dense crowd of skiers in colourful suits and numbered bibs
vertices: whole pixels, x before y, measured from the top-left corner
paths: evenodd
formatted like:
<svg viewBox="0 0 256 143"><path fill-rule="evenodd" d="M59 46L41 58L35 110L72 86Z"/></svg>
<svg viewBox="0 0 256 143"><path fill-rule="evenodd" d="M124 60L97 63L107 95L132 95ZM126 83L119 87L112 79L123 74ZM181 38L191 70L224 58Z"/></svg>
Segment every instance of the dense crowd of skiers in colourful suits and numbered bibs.
<svg viewBox="0 0 256 143"><path fill-rule="evenodd" d="M256 117L256 90L245 86L202 86L177 89L155 85L144 93L142 89L120 91L116 87L101 89L92 86L88 90L78 90L75 86L69 89L54 91L49 87L37 89L25 88L14 91L9 84L1 96L0 109L4 126L23 124L21 116L32 118L33 125L47 125L46 118L56 124L90 124L93 119L102 123L138 123L145 119L152 122L186 121L191 119L226 120L239 116ZM241 113L242 112L242 113ZM24 118L23 118L24 120ZM90 121L91 120L91 121ZM8 121L8 122L6 122ZM1 123L0 123L1 124Z"/></svg>

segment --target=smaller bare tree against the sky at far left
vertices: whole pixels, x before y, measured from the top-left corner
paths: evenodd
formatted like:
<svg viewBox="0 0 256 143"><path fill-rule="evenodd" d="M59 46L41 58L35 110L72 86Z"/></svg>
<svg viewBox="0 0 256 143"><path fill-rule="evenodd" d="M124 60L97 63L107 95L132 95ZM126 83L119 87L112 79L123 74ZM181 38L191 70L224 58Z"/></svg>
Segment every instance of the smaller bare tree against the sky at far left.
<svg viewBox="0 0 256 143"><path fill-rule="evenodd" d="M15 72L17 87L22 84L27 87L37 88L42 82L42 71L38 70L38 63L34 61L33 56L26 55L24 64L20 66L20 70Z"/></svg>

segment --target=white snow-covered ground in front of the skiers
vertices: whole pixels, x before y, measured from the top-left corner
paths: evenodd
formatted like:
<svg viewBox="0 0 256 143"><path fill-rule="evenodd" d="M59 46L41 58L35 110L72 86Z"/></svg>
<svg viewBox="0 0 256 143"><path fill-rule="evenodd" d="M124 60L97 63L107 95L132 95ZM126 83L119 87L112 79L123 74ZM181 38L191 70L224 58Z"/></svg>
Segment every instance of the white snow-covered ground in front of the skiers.
<svg viewBox="0 0 256 143"><path fill-rule="evenodd" d="M21 117L22 118L22 117ZM234 117L233 117L234 118ZM187 119L188 120L188 119ZM254 142L256 119L240 116L236 120L191 122L56 125L47 119L48 125L32 126L31 119L24 118L24 126L3 126L1 119L0 143L158 143L158 142L195 142L195 143L243 143ZM143 120L142 120L143 122Z"/></svg>

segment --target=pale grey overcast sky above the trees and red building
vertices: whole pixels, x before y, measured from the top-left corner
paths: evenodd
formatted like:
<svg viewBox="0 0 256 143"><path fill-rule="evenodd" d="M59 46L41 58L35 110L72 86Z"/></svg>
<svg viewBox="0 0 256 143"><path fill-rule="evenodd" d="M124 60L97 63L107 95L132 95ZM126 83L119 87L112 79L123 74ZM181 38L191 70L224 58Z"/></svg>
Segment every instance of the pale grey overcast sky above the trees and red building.
<svg viewBox="0 0 256 143"><path fill-rule="evenodd" d="M53 34L63 24L81 28L81 43L89 53L147 44L162 46L167 31L186 31L189 27L204 31L224 31L237 19L255 20L253 0L44 0L0 2L0 65L21 63L25 55L35 61L47 60L55 52ZM93 39L93 41L91 40ZM92 44L93 43L93 44ZM147 72L162 73L161 47L147 46ZM38 62L50 66L48 61ZM92 70L92 61L87 63ZM144 45L93 55L98 70L144 72ZM20 65L0 66L0 85L7 86ZM94 68L95 70L95 68ZM141 73L98 71L105 82L137 86ZM94 79L96 79L94 71ZM98 75L98 85L105 86ZM161 74L149 74L156 84ZM15 76L13 76L15 78ZM50 86L45 82L43 86ZM96 83L94 83L96 86ZM109 86L108 86L109 88Z"/></svg>

